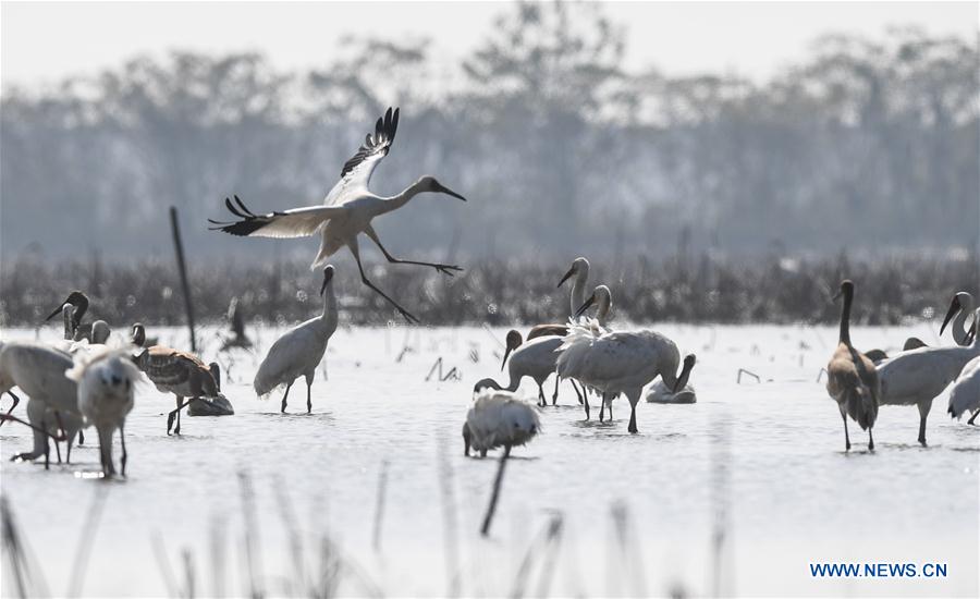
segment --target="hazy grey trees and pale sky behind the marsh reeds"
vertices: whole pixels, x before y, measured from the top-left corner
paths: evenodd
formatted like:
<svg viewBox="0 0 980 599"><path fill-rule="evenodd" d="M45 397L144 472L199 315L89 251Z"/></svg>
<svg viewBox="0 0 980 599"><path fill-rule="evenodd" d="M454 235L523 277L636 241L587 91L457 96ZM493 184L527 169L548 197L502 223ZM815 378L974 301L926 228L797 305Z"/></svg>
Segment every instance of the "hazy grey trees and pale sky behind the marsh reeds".
<svg viewBox="0 0 980 599"><path fill-rule="evenodd" d="M421 196L379 219L396 254L548 265L552 286L583 254L702 274L760 256L789 271L927 256L968 262L959 286L976 284L973 2L2 11L8 308L12 260L98 262L56 289L100 284L103 262L169 264L171 205L193 267L302 277L317 241L206 219L231 194L255 210L318 203L390 105L399 137L375 191L431 173L470 200Z"/></svg>

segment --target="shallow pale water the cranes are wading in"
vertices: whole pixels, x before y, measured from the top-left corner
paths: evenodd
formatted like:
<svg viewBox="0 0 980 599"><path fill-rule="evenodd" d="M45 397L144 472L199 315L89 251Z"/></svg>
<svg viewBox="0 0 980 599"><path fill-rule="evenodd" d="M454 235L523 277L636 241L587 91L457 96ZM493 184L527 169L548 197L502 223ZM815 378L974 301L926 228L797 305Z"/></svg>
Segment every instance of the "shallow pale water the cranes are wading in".
<svg viewBox="0 0 980 599"><path fill-rule="evenodd" d="M836 405L817 382L834 330L658 329L697 353L698 403L641 402L640 433L630 436L627 402L615 402L612 423L598 423L597 405L584 421L562 386L560 405L543 409L543 433L514 450L488 539L477 530L498 461L465 459L460 429L471 384L500 376L502 330L339 329L329 378L321 368L313 387L314 413L304 413L301 380L281 415L280 392L261 401L250 389L261 352L281 330L262 330L257 353L219 355L217 332L205 329L201 353L224 366L235 416L185 416L183 435L168 437L163 414L173 398L146 383L126 424L127 479L84 476L98 470L89 429L70 466L3 462L2 490L53 595L68 592L79 543L90 549L79 585L87 596L176 594L185 552L197 595L246 594L249 573L270 595L298 594L297 580L320 571L324 538L346 564L343 595L509 595L522 586L526 555L528 595L980 594L980 427L951 420L945 394L930 415L929 448L916 443L915 407L883 406L877 451L867 451L867 435L853 424L855 449L845 453ZM186 345L183 330L149 334ZM860 347L891 351L909 334L936 343L927 326L853 331ZM440 357L458 380L425 380ZM761 382L745 375L736 383L739 368ZM522 391L536 395L530 380ZM3 454L29 449L28 432L4 425ZM245 524L240 473L254 488L254 526ZM100 517L84 537L96 498ZM614 513L625 513L621 528ZM561 539L548 545L541 538L555 514ZM246 537L257 548L250 567ZM947 577L812 578L808 564L818 561L940 562ZM2 595L13 596L4 569ZM168 583L168 569L179 582Z"/></svg>

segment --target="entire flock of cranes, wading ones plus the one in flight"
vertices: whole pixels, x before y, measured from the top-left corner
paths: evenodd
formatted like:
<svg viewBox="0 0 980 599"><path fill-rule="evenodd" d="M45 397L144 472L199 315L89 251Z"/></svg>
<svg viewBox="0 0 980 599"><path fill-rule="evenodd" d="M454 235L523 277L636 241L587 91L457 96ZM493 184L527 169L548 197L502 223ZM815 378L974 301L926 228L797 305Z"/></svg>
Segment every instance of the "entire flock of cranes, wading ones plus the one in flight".
<svg viewBox="0 0 980 599"><path fill-rule="evenodd" d="M399 124L399 110L388 109L378 120L375 133L368 134L357 152L344 163L341 180L320 206L292 208L257 215L234 196L225 206L236 217L229 222L210 221L212 229L233 235L265 237L302 237L320 234L321 242L313 269L322 268L320 295L323 309L279 338L269 349L253 383L256 394L268 396L284 388L281 411L285 412L290 389L302 376L306 381L306 409L313 411L311 386L316 367L323 359L327 345L338 326L338 302L334 293L335 269L329 258L346 246L357 264L365 285L381 295L409 322L418 319L395 300L377 288L365 274L357 237L368 236L394 264L433 268L448 277L461 268L455 265L406 260L394 257L382 245L371 227L375 217L391 212L420 193L441 193L465 201L465 198L439 183L422 176L402 193L381 197L368 190L371 173L388 155ZM510 379L501 384L485 378L474 386L474 402L463 425L464 452L470 449L485 456L532 439L540 429L540 406L547 405L544 382L555 377L552 404L558 401L559 384L567 380L590 417L589 394L600 401L600 421L605 412L612 418L613 400L625 395L630 405L628 430L637 432L636 406L645 388L647 401L657 403L694 403L695 390L688 384L696 364L694 354L682 359L677 345L663 334L649 330L611 330L608 317L612 292L607 285L589 293L589 261L577 258L559 282L561 288L572 280L569 314L563 323L532 327L523 337L511 330L506 335L503 367ZM848 416L868 431L868 447L873 449L871 430L880 405L917 405L920 415L918 441L926 444L926 420L932 401L951 382L948 412L959 418L972 413L973 424L980 413L980 309L973 313L973 298L957 293L940 330L952 321L955 345L926 346L909 340L906 350L893 356L873 350L861 353L850 340L850 308L854 284L844 281L838 345L828 365L828 393L837 402L844 420L845 447L850 449ZM589 293L587 296L586 294ZM8 393L13 405L3 421L13 420L30 427L33 448L14 459L50 461L50 441L54 441L58 460L59 442L66 442L65 461L70 462L76 435L83 441L83 429L94 426L99 438L102 473L115 474L112 439L120 433L121 473L126 469L125 419L135 402L136 383L149 379L163 393L175 396L175 408L168 413L167 433L180 435L180 416L184 408L192 414L231 415L234 409L221 393L221 372L217 364L206 365L198 356L147 340L146 329L133 325L124 339L112 339L108 323L84 322L89 307L87 296L78 291L48 317L62 316L64 340L58 343L35 341L0 341L0 394ZM595 308L595 316L589 316ZM972 317L972 325L967 326ZM235 343L244 343L236 339ZM538 406L516 395L524 378L538 386ZM27 420L12 415L20 402L13 389L29 399ZM175 427L173 426L175 421Z"/></svg>

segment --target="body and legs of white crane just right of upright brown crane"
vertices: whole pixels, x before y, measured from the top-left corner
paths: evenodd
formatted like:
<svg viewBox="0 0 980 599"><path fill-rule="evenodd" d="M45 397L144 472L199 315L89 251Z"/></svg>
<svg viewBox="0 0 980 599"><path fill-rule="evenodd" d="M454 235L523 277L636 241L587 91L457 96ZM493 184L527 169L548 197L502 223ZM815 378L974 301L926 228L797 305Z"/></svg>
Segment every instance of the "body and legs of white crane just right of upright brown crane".
<svg viewBox="0 0 980 599"><path fill-rule="evenodd" d="M980 318L980 309L973 318ZM919 443L926 447L926 419L932 400L959 376L968 362L980 355L980 337L968 346L920 347L897 354L878 365L882 405L919 408Z"/></svg>

